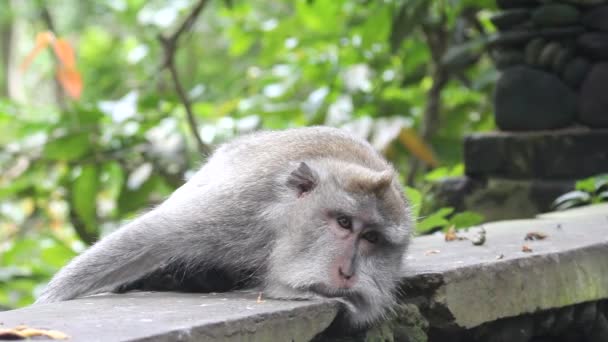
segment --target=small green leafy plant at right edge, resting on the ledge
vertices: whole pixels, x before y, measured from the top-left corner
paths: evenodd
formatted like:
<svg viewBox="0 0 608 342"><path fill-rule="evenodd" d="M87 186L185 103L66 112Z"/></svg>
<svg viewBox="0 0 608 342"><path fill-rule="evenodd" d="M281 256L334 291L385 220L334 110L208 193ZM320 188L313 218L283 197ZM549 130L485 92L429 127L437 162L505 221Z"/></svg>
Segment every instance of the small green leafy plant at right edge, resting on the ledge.
<svg viewBox="0 0 608 342"><path fill-rule="evenodd" d="M608 174L576 182L575 190L567 192L553 201L553 209L566 210L602 202L608 202Z"/></svg>

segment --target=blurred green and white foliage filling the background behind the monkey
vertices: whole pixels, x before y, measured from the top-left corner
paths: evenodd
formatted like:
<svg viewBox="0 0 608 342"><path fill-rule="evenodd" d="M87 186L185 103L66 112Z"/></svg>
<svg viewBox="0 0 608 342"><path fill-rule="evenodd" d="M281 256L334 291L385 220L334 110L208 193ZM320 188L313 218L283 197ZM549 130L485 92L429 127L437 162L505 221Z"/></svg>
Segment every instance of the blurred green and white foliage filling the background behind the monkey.
<svg viewBox="0 0 608 342"><path fill-rule="evenodd" d="M158 40L198 2L0 0L0 305L30 303L70 258L204 161ZM484 54L493 6L209 1L181 35L175 65L205 144L257 129L343 127L424 189L462 172L463 134L494 127L496 71ZM19 72L44 31L74 48L79 100L54 80L61 61L49 51ZM424 176L411 167L418 159L441 168ZM425 212L424 193L408 192L425 217L419 232L480 220L450 208Z"/></svg>

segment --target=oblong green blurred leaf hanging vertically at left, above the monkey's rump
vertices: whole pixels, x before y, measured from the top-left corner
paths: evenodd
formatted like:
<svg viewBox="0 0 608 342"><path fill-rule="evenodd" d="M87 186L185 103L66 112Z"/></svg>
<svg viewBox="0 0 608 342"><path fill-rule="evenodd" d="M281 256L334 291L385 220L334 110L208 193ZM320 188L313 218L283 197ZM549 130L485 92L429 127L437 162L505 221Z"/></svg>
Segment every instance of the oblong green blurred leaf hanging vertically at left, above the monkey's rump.
<svg viewBox="0 0 608 342"><path fill-rule="evenodd" d="M87 230L97 231L97 191L99 171L95 165L85 165L72 186L72 207Z"/></svg>

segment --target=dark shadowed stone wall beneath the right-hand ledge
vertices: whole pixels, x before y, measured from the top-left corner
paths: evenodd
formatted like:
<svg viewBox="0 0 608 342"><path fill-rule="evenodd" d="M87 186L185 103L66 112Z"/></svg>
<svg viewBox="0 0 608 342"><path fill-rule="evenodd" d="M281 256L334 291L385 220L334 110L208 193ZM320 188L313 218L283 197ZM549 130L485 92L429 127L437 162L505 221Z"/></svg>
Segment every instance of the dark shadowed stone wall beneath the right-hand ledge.
<svg viewBox="0 0 608 342"><path fill-rule="evenodd" d="M594 301L484 323L473 329L432 327L417 306L401 305L399 318L348 337L321 342L602 342L608 341L608 301Z"/></svg>

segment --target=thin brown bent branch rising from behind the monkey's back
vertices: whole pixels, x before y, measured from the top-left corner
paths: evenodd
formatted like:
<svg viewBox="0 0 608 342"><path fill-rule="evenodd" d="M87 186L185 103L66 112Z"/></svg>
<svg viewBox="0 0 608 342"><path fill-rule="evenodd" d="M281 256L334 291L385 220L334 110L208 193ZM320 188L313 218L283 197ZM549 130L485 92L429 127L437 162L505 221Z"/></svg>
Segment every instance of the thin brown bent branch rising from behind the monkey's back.
<svg viewBox="0 0 608 342"><path fill-rule="evenodd" d="M175 30L175 32L169 37L164 37L162 35L158 36L158 40L160 41L164 51L164 59L161 64L161 68L169 70L169 73L171 74L171 78L173 80L175 91L177 92L177 95L179 96L179 99L182 102L184 109L186 110L188 126L190 127L190 131L194 136L194 140L196 141L198 150L206 155L211 153L211 148L209 148L209 146L207 146L207 144L203 142L200 134L198 133L198 125L196 122L196 118L194 117L194 113L192 112L192 103L188 98L188 94L184 90L182 82L179 78L179 74L177 73L177 68L175 66L175 52L177 51L177 43L180 36L184 32L192 28L192 25L194 25L196 18L200 15L200 13L205 8L205 5L207 5L208 2L208 0L200 0L196 4L196 6L194 6L188 17L186 17L186 19L177 28L177 30Z"/></svg>

